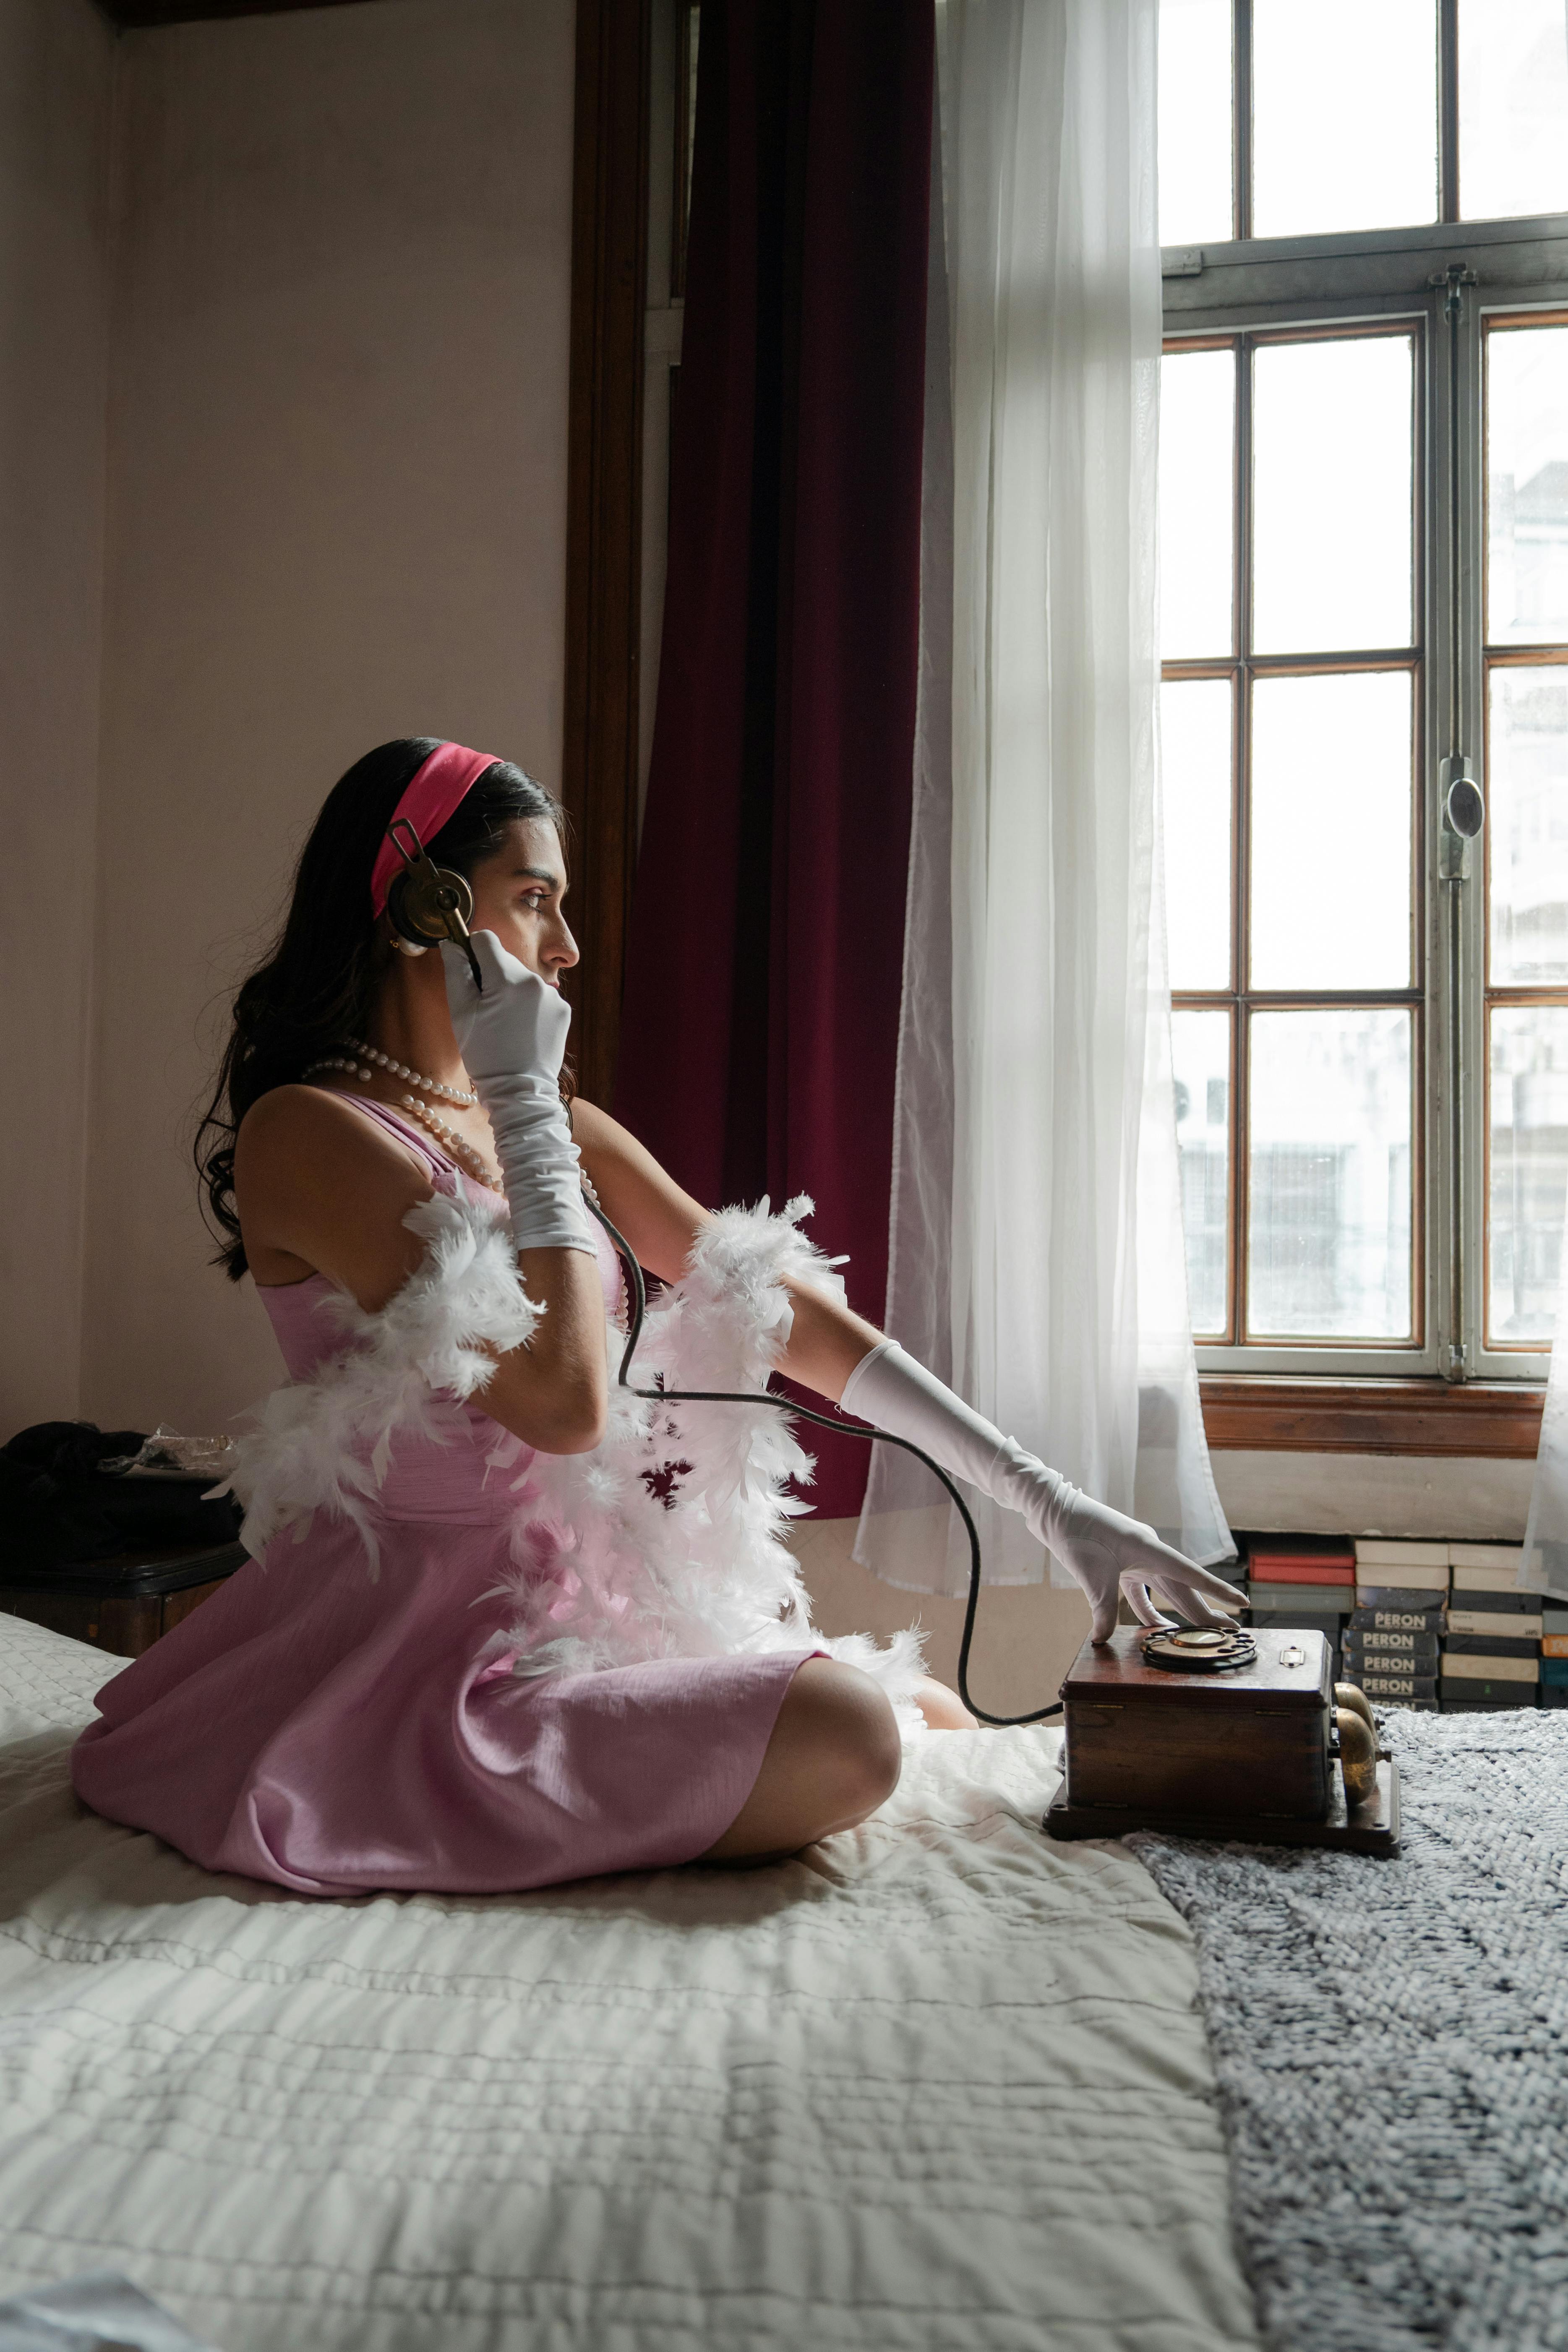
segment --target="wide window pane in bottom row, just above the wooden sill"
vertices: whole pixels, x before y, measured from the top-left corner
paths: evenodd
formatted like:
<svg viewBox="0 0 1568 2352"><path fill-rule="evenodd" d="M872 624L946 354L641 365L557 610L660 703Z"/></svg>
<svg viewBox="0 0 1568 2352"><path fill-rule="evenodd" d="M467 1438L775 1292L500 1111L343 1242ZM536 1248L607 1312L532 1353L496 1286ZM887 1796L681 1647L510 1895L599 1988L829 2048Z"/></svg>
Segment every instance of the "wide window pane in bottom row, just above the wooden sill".
<svg viewBox="0 0 1568 2352"><path fill-rule="evenodd" d="M1251 1336L1410 1336L1410 1014L1253 1014Z"/></svg>

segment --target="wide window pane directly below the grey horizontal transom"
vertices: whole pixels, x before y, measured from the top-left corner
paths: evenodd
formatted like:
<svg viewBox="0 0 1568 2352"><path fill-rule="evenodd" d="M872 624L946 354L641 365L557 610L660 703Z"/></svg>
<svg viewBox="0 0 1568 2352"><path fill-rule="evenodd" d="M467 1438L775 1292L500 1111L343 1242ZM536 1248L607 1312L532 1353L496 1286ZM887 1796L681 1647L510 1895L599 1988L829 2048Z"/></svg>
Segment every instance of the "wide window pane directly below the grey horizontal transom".
<svg viewBox="0 0 1568 2352"><path fill-rule="evenodd" d="M1413 642L1406 334L1253 353L1253 649Z"/></svg>

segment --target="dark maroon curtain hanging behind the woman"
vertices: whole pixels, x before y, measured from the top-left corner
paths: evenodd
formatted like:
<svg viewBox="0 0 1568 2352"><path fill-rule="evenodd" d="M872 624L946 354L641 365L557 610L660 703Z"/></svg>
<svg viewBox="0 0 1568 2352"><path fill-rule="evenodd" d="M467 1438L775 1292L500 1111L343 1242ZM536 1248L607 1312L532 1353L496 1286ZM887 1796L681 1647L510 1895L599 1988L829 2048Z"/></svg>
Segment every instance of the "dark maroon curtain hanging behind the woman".
<svg viewBox="0 0 1568 2352"><path fill-rule="evenodd" d="M919 640L931 0L703 7L616 1115L882 1319ZM816 1432L811 1432L816 1435ZM823 1439L816 1505L860 1508Z"/></svg>

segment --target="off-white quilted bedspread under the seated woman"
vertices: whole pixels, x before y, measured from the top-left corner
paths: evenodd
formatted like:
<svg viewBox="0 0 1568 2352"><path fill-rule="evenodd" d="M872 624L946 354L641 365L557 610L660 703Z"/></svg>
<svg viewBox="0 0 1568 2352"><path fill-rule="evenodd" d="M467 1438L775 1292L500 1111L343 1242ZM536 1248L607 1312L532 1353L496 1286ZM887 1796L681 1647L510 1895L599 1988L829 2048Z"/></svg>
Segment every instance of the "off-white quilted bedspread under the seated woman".
<svg viewBox="0 0 1568 2352"><path fill-rule="evenodd" d="M85 1813L0 1618L0 2293L221 2352L1255 2345L1187 1929L1041 1731L757 1872L301 1900Z"/></svg>

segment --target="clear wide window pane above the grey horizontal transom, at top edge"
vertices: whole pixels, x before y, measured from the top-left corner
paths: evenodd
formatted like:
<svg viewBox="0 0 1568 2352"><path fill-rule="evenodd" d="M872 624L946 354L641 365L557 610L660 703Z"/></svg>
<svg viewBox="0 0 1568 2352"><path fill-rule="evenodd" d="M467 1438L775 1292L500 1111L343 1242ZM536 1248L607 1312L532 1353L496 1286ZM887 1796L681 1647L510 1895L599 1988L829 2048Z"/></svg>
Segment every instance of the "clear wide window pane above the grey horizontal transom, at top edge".
<svg viewBox="0 0 1568 2352"><path fill-rule="evenodd" d="M1434 0L1253 0L1253 235L1406 221L1436 221Z"/></svg>

